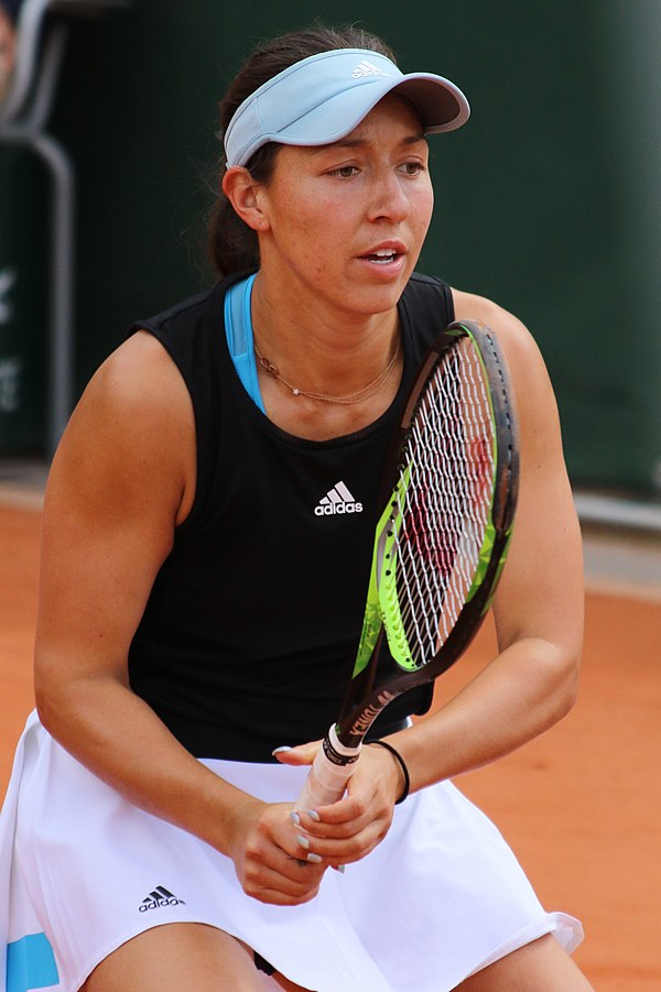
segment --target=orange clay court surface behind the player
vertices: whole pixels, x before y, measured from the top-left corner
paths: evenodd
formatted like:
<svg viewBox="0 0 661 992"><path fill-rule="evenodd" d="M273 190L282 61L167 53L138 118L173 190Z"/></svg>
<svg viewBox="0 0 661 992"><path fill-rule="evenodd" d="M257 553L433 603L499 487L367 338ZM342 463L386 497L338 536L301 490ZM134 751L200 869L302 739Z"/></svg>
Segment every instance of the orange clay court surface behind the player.
<svg viewBox="0 0 661 992"><path fill-rule="evenodd" d="M0 797L32 709L41 514L39 499L24 504L0 493ZM576 960L594 986L659 992L661 593L651 581L590 589L576 708L458 784L503 831L545 906L581 917ZM469 678L492 643L484 631L438 697Z"/></svg>

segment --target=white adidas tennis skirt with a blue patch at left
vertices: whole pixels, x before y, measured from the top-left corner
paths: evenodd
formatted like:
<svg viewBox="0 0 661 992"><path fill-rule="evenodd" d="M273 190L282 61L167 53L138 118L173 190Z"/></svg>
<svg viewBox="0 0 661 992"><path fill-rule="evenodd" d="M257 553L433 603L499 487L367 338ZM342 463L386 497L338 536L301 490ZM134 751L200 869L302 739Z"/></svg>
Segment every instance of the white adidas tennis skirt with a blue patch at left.
<svg viewBox="0 0 661 992"><path fill-rule="evenodd" d="M266 802L293 802L307 773L204 764ZM117 947L170 923L219 927L315 992L443 992L544 934L568 951L583 937L542 908L451 783L398 806L383 842L344 875L326 872L311 903L271 906L242 892L228 858L128 803L32 715L0 819L1 992L77 992Z"/></svg>

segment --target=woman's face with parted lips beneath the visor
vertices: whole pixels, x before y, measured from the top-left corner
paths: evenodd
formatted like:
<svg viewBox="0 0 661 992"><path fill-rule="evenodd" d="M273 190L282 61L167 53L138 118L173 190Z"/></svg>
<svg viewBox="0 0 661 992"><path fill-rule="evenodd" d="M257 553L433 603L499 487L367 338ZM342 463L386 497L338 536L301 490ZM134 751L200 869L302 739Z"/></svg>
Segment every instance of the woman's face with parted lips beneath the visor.
<svg viewBox="0 0 661 992"><path fill-rule="evenodd" d="M427 159L416 115L392 94L342 141L281 148L257 193L264 275L303 307L392 309L431 220Z"/></svg>

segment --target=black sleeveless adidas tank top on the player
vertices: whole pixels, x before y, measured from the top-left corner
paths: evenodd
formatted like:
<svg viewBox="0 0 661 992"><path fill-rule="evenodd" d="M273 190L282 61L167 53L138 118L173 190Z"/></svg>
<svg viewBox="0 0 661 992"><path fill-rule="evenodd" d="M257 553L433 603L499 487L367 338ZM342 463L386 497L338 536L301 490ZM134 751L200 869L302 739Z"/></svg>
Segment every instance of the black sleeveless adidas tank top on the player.
<svg viewBox="0 0 661 992"><path fill-rule="evenodd" d="M229 355L223 304L246 273L133 325L153 334L192 397L197 487L129 654L133 690L197 757L271 761L322 738L354 667L381 470L411 379L453 318L444 283L414 274L399 304L404 375L390 408L345 437L305 440L254 405ZM384 734L429 709L392 702Z"/></svg>

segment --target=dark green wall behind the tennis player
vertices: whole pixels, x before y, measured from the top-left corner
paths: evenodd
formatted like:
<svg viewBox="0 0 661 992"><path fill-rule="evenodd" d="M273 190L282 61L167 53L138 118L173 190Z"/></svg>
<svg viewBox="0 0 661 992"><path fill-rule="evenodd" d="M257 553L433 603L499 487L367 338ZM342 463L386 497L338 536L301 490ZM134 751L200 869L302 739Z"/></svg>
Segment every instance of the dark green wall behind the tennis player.
<svg viewBox="0 0 661 992"><path fill-rule="evenodd" d="M136 0L76 24L52 130L78 179L77 389L132 320L212 280L217 100L257 41L314 18L360 22L404 70L466 91L468 126L431 141L436 215L420 268L528 324L576 487L658 495L659 0L318 0L290 13ZM45 216L31 218L36 243Z"/></svg>

